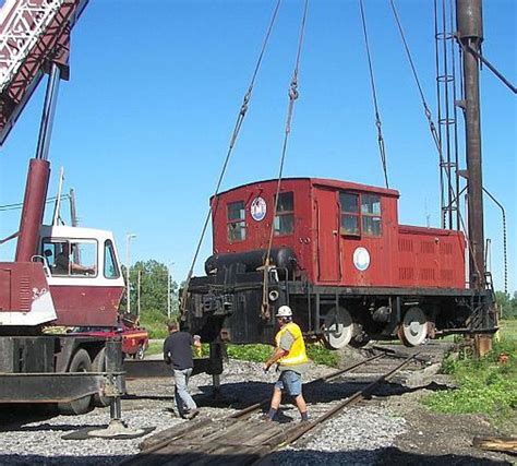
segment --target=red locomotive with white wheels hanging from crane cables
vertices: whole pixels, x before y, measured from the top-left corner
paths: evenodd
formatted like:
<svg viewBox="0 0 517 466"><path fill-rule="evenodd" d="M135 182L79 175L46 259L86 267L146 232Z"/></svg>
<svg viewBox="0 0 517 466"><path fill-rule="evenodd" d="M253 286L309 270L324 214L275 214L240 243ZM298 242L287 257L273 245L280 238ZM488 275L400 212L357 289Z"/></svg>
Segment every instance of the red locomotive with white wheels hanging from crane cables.
<svg viewBox="0 0 517 466"><path fill-rule="evenodd" d="M214 255L188 288L191 332L270 343L285 303L308 337L333 348L494 327L492 291L468 288L464 235L399 225L397 191L285 179L274 216L276 189L260 181L212 199Z"/></svg>

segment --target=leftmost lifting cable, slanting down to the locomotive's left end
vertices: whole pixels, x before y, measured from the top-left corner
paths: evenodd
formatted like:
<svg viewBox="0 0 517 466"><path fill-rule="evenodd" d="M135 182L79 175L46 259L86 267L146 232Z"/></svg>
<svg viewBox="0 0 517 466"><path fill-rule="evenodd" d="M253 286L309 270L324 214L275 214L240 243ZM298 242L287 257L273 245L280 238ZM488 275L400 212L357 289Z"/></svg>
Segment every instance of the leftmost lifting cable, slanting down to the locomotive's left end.
<svg viewBox="0 0 517 466"><path fill-rule="evenodd" d="M236 120L236 124L235 124L235 128L233 128L233 132L231 134L231 139L230 139L230 143L229 143L229 146L228 146L228 152L226 154L226 158L225 158L225 163L223 164L223 169L221 169L221 172L219 175L219 179L217 181L217 186L216 186L216 189L215 189L215 192L214 192L214 205L211 205L209 208L208 208L208 213L206 215L206 218L205 218L205 223L203 225L203 229L202 229L202 232L201 232L201 237L200 237L200 240L197 242L197 247L195 249L195 253L194 253L194 258L192 259L192 264L190 266L190 270L189 270L189 273L187 275L187 279L185 279L185 283L184 283L184 286L183 286L183 292L181 295L181 302L180 302L180 314L183 315L184 312L185 312L185 308L187 308L187 294L188 294L188 289L189 289L189 285L190 285L190 280L192 278L192 274L194 273L194 266L195 266L195 263L197 261L197 255L200 254L200 250L201 250L201 246L203 243L203 239L205 237L205 234L206 234L206 229L208 227L208 222L211 219L211 216L212 216L212 212L214 210L214 212L217 210L217 194L219 193L219 189L220 189L220 186L223 183L223 179L225 177L225 174L226 174L226 169L228 167L228 163L230 162L230 157L231 157L231 154L233 152L233 147L236 145L236 142L237 142L237 138L239 135L239 132L241 130L241 127L242 127L242 123L244 121L244 117L248 112L248 107L249 107L249 104L250 104L250 100L251 100L251 97L252 97L252 93L253 93L253 86L255 84L255 81L256 81L256 76L258 74L258 70L261 68L261 64L262 64L262 60L264 58L264 53L265 53L265 50L266 50L266 47L267 47L267 43L269 41L269 36L272 34L272 31L273 31L273 27L275 25L275 21L276 21L276 17L278 15L278 10L280 8L280 3L281 3L281 0L277 0L276 2L276 5L275 5L275 9L273 11L273 15L272 15L272 19L270 19L270 22L269 22L269 26L267 28L267 32L266 32L266 35L264 37L264 40L263 40L263 44L262 44L262 48L261 48L261 52L258 55L258 58L256 60L256 64L255 64L255 69L253 71L253 74L252 74L252 77L251 77L251 82L250 82L250 85L248 87L248 91L247 93L244 94L244 98L242 100L242 105L241 105L241 108L239 109L239 113L237 116L237 120Z"/></svg>

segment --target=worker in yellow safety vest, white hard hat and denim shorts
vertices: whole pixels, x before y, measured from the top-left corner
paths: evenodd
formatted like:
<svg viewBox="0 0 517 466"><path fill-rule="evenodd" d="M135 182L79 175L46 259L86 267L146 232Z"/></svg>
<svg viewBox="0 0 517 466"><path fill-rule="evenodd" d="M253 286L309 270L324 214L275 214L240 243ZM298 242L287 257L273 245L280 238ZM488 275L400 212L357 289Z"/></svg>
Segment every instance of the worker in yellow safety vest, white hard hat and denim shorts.
<svg viewBox="0 0 517 466"><path fill-rule="evenodd" d="M276 348L273 356L264 363L264 371L275 363L280 377L275 383L267 420L273 420L281 402L281 393L287 392L293 397L300 411L302 422L308 421L306 404L302 395L302 374L306 370L309 359L305 353L305 343L300 327L292 322L292 311L289 306L280 306L276 313L280 330L276 334Z"/></svg>

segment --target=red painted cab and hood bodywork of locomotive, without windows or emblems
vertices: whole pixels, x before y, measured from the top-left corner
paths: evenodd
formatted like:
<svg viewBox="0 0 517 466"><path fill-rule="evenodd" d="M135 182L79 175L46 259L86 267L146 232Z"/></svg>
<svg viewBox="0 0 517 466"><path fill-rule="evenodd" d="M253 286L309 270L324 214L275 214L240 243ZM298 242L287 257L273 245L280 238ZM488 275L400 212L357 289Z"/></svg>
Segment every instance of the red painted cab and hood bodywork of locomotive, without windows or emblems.
<svg viewBox="0 0 517 466"><path fill-rule="evenodd" d="M273 222L276 180L235 188L218 195L213 205L214 252L267 249ZM465 288L465 238L461 232L398 224L398 192L383 188L315 178L286 179L281 192L294 193L294 231L274 237L274 247L296 252L300 273L316 285ZM382 236L350 237L339 230L339 192L381 196ZM252 218L256 196L267 204L263 220ZM229 242L227 204L244 201L247 239ZM337 231L337 235L335 234ZM353 252L365 248L370 265L361 272Z"/></svg>

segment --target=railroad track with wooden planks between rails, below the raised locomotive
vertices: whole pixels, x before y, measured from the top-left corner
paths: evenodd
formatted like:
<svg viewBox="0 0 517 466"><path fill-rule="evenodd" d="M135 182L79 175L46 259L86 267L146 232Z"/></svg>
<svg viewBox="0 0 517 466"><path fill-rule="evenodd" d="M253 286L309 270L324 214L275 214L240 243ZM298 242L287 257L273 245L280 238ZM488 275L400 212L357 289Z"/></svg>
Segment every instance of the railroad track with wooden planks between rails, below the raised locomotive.
<svg viewBox="0 0 517 466"><path fill-rule="evenodd" d="M326 377L313 380L304 385L305 391L317 390L326 382L373 365L387 358L388 355L381 354L362 362L333 372ZM368 396L384 382L388 382L397 372L406 368L418 358L418 353L405 358L401 362L396 361L390 368L376 377L354 393L342 399L330 404L329 408L312 409L313 419L310 422L293 425L280 422L265 422L257 418L257 413L269 403L269 398L251 405L223 420L211 420L199 418L194 421L183 423L161 431L142 444L142 452L127 458L121 464L132 466L157 466L157 465L253 465L267 457L276 450L284 447L302 435L306 434L317 426L336 416L342 409L354 405Z"/></svg>

